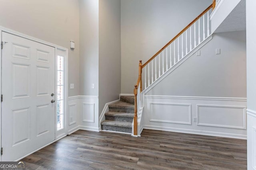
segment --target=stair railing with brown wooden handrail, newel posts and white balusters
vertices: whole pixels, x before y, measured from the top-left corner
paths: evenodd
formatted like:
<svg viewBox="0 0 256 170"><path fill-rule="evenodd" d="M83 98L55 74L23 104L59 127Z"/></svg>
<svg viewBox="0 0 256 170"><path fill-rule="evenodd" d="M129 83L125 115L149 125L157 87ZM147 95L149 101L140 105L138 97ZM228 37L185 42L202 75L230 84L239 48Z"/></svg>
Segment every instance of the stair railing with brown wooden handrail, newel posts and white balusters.
<svg viewBox="0 0 256 170"><path fill-rule="evenodd" d="M139 76L134 86L134 135L137 135L137 111L140 108L140 93L142 92L142 70L144 74L144 89L148 88L165 72L170 70L174 65L181 61L188 53L196 48L202 41L210 35L210 20L213 4L208 6L199 16L190 22L182 31L180 31L171 41L169 41L162 49L153 55L146 63L139 63ZM139 95L138 95L139 94Z"/></svg>

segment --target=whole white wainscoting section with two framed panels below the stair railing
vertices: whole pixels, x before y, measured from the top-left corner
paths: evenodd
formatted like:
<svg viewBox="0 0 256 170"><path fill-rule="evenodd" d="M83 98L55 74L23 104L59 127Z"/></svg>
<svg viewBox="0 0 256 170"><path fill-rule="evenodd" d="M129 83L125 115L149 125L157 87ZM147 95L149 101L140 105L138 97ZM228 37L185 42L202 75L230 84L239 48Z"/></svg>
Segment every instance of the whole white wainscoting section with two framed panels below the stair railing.
<svg viewBox="0 0 256 170"><path fill-rule="evenodd" d="M142 96L144 129L246 139L246 98Z"/></svg>

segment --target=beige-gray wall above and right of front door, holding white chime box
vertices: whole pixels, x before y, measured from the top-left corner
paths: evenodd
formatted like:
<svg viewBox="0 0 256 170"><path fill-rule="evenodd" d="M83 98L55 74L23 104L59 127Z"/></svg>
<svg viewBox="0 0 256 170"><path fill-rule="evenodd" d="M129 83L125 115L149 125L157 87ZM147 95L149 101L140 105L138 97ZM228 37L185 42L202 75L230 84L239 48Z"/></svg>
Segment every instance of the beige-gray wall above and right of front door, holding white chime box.
<svg viewBox="0 0 256 170"><path fill-rule="evenodd" d="M79 1L0 0L0 25L68 49L68 82L79 95ZM70 40L75 41L74 51Z"/></svg>

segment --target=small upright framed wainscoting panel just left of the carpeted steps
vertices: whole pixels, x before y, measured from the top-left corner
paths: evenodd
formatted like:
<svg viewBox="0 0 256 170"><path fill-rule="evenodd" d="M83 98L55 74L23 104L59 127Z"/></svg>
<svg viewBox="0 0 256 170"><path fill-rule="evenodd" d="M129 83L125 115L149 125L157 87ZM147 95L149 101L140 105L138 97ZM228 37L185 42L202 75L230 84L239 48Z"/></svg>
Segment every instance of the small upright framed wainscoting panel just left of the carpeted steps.
<svg viewBox="0 0 256 170"><path fill-rule="evenodd" d="M95 107L94 103L82 103L82 121L94 123Z"/></svg>

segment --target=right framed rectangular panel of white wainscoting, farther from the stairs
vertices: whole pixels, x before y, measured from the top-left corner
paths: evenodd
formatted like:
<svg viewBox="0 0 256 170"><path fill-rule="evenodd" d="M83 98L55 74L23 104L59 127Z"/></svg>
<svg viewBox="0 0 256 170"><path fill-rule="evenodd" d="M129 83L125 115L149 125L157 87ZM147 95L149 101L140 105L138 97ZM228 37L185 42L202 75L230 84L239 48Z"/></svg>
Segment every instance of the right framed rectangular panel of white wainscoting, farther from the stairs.
<svg viewBox="0 0 256 170"><path fill-rule="evenodd" d="M246 107L197 105L197 125L246 129Z"/></svg>

